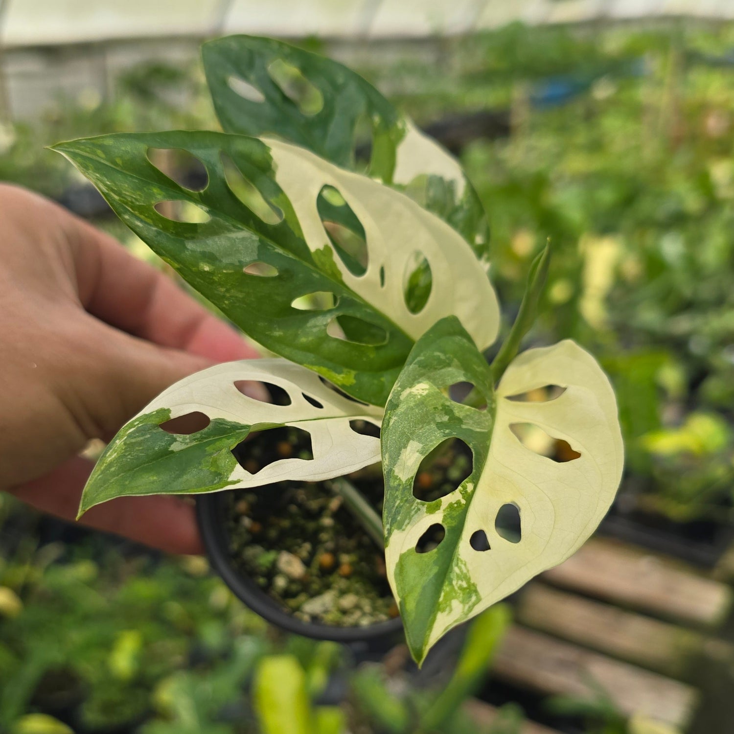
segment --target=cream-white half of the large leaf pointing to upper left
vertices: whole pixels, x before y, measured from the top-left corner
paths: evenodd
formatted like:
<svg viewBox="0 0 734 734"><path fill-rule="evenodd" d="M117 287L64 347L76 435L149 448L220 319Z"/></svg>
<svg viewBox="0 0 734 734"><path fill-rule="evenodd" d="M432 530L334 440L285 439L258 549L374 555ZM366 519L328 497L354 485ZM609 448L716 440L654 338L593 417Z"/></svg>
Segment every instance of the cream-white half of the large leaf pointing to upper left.
<svg viewBox="0 0 734 734"><path fill-rule="evenodd" d="M415 128L410 133L421 146L437 145ZM324 161L295 145L266 139L275 164L275 180L291 201L311 252L331 246L316 208L324 186L333 186L360 220L365 234L368 266L353 275L334 257L344 284L417 339L444 316L457 316L482 349L493 344L499 329L499 305L494 289L473 252L446 222L388 186ZM453 159L451 164L456 166ZM420 252L432 273L428 301L418 313L409 310L402 288L414 252Z"/></svg>

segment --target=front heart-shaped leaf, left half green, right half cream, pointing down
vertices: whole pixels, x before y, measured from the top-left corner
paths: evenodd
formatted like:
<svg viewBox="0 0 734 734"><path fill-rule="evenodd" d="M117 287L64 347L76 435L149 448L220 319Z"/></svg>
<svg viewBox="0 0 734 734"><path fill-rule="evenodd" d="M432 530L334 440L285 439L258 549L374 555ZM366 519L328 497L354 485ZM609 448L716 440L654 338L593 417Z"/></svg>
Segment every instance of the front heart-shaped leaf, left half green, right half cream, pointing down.
<svg viewBox="0 0 734 734"><path fill-rule="evenodd" d="M486 409L452 401L457 382L471 382ZM528 425L536 437L524 445ZM466 443L473 470L445 496L418 499L421 462L447 439ZM390 393L382 464L388 576L420 662L595 530L622 474L614 393L572 341L524 352L495 391L470 335L448 317L415 344ZM433 542L421 547L426 534Z"/></svg>

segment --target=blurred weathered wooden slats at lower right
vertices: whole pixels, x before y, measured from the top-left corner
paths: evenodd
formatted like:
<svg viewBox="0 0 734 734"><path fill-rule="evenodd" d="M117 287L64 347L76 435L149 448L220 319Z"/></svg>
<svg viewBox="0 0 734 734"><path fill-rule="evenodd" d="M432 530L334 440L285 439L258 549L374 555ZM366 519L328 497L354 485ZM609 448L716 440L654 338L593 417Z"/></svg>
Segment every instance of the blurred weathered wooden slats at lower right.
<svg viewBox="0 0 734 734"><path fill-rule="evenodd" d="M730 586L699 570L595 538L518 592L491 675L543 696L602 690L620 713L684 731L700 701L686 679L692 662L734 664L730 644L716 639L732 602ZM491 707L472 706L490 721ZM523 734L553 733L528 722Z"/></svg>

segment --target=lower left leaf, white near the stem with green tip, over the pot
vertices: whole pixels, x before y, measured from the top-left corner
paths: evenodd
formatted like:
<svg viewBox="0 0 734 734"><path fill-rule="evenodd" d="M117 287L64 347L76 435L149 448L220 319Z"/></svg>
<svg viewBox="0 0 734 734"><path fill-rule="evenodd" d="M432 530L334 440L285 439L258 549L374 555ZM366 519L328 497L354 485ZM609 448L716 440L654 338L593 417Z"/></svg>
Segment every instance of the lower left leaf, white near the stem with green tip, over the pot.
<svg viewBox="0 0 734 734"><path fill-rule="evenodd" d="M241 383L249 381L275 385L283 404L244 394ZM184 417L201 422L175 429L174 421L181 424ZM342 397L286 360L210 367L164 390L123 426L92 471L79 514L122 495L195 494L341 476L379 462L379 438L353 424L379 428L381 418L379 408ZM308 432L313 459L278 459L254 473L239 465L233 451L250 432L277 426Z"/></svg>

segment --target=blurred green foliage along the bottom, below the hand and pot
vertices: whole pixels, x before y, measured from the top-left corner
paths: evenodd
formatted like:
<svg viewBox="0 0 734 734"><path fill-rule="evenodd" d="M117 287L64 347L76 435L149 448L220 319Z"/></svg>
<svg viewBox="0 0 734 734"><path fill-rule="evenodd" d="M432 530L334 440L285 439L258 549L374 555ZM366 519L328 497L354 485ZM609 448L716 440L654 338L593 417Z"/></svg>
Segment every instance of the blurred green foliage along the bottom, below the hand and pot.
<svg viewBox="0 0 734 734"><path fill-rule="evenodd" d="M0 512L5 531L31 517L8 498ZM18 540L0 562L0 731L344 734L350 719L379 713L377 731L403 722L396 731L479 734L461 705L509 624L504 605L470 626L437 695L396 697L367 666L355 675L357 706L317 705L335 672L349 675L346 651L269 628L203 559L88 537Z"/></svg>

